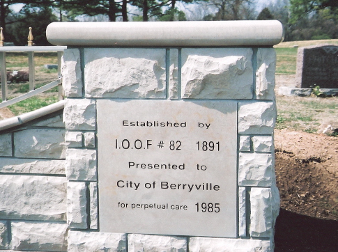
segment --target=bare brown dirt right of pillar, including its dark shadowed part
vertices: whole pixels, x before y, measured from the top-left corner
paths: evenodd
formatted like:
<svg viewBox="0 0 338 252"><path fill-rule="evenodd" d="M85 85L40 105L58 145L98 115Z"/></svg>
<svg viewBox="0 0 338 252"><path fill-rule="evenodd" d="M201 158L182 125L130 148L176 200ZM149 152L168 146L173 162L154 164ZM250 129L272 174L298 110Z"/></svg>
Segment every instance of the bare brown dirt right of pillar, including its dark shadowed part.
<svg viewBox="0 0 338 252"><path fill-rule="evenodd" d="M338 138L275 130L275 251L337 251Z"/></svg>

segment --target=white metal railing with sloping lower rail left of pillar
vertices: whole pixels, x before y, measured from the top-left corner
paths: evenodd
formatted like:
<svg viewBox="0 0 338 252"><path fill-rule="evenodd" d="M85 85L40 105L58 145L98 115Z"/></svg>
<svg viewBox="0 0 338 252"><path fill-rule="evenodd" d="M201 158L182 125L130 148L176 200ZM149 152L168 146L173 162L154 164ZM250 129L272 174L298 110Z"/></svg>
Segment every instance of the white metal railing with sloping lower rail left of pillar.
<svg viewBox="0 0 338 252"><path fill-rule="evenodd" d="M67 47L61 46L23 46L23 47L1 47L0 46L0 68L1 68L1 97L2 102L0 103L0 109L7 107L10 104L15 104L22 100L26 100L29 97L38 95L54 86L59 86L59 99L63 97L63 90L61 86L61 57L63 50ZM7 52L27 52L28 63L29 63L29 93L20 95L11 100L8 100L8 84L7 84L7 68L6 68L6 53ZM57 52L58 57L58 78L51 83L35 89L35 63L34 63L34 52Z"/></svg>

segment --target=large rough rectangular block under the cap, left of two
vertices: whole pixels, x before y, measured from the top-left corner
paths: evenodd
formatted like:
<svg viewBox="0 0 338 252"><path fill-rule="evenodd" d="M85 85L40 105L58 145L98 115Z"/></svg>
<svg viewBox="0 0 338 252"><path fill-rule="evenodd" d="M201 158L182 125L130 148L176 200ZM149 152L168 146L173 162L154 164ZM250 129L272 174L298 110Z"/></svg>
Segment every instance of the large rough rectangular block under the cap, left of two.
<svg viewBox="0 0 338 252"><path fill-rule="evenodd" d="M165 98L166 50L84 49L86 97Z"/></svg>

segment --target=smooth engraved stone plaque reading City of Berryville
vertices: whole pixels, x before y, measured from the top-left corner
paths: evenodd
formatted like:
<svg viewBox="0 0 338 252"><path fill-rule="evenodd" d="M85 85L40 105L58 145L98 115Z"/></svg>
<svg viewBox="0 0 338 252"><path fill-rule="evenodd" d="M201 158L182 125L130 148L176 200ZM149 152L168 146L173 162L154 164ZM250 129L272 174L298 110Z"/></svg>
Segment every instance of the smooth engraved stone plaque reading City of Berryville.
<svg viewBox="0 0 338 252"><path fill-rule="evenodd" d="M98 100L100 232L237 237L237 102Z"/></svg>

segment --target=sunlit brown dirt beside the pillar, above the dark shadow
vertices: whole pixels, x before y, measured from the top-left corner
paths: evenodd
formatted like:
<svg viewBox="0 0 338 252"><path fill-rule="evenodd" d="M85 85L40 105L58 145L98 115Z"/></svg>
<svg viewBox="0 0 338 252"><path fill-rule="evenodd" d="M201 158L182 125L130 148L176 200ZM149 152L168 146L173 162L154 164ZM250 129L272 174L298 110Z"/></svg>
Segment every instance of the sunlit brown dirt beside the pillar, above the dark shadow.
<svg viewBox="0 0 338 252"><path fill-rule="evenodd" d="M338 220L338 138L275 130L275 157L282 208Z"/></svg>

